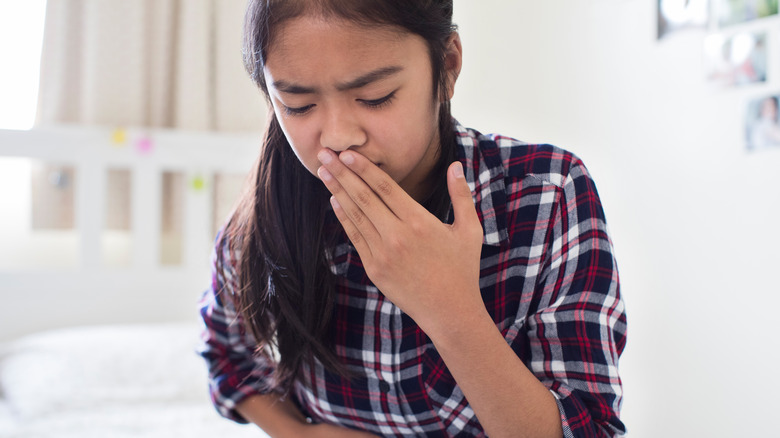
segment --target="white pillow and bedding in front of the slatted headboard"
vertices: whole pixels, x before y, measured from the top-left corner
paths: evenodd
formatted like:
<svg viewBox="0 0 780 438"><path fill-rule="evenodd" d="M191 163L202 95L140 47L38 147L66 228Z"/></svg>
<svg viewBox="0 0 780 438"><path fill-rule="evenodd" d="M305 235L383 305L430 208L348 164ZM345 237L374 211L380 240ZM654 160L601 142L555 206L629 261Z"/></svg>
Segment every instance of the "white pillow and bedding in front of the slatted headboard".
<svg viewBox="0 0 780 438"><path fill-rule="evenodd" d="M266 437L208 399L194 324L40 333L0 352L0 437Z"/></svg>

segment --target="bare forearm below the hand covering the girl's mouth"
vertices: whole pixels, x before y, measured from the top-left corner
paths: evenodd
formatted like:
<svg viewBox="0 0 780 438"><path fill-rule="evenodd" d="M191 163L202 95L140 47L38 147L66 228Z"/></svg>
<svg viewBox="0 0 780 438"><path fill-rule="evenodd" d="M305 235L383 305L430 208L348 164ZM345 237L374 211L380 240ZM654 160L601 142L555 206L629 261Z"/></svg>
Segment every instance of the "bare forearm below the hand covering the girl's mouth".
<svg viewBox="0 0 780 438"><path fill-rule="evenodd" d="M487 312L458 319L431 339L489 436L563 435L555 397L509 347Z"/></svg>

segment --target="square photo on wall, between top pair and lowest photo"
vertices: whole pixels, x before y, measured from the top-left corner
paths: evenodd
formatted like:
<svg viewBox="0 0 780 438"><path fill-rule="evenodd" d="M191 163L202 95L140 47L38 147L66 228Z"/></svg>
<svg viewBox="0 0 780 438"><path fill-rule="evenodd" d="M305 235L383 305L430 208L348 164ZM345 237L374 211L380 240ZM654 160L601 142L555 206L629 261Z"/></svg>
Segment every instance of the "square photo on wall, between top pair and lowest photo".
<svg viewBox="0 0 780 438"><path fill-rule="evenodd" d="M766 33L713 34L704 40L704 68L713 85L766 82Z"/></svg>

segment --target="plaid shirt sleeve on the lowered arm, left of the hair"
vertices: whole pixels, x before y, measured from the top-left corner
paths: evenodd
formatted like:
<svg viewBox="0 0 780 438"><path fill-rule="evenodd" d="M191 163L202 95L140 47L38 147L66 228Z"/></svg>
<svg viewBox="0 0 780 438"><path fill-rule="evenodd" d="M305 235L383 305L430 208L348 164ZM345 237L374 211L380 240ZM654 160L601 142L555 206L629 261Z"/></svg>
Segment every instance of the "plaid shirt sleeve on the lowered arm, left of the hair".
<svg viewBox="0 0 780 438"><path fill-rule="evenodd" d="M222 251L225 262L222 272L217 269L218 251ZM235 407L250 395L268 392L274 364L255 353L257 343L236 311L235 257L226 243L217 245L211 265L211 286L199 301L203 326L198 353L208 366L209 393L217 411L233 421L247 423Z"/></svg>

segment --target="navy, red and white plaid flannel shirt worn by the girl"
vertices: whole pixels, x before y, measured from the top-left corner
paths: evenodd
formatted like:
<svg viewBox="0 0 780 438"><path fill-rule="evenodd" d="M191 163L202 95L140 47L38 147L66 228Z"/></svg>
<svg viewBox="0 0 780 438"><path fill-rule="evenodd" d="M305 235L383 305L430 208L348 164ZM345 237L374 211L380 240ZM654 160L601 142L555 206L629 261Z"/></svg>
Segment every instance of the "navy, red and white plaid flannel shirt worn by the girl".
<svg viewBox="0 0 780 438"><path fill-rule="evenodd" d="M556 147L459 124L456 130L485 232L480 288L487 310L554 395L564 436L624 433L617 365L626 319L592 179L577 157ZM217 251L236 259L227 248ZM319 362L306 366L294 393L304 414L382 436L484 436L430 339L373 286L346 238L335 248L332 269L336 354L357 377L344 379ZM200 354L217 410L245 422L235 406L261 392L274 364L252 354L255 341L220 290L237 290L234 271L214 272L200 302Z"/></svg>

